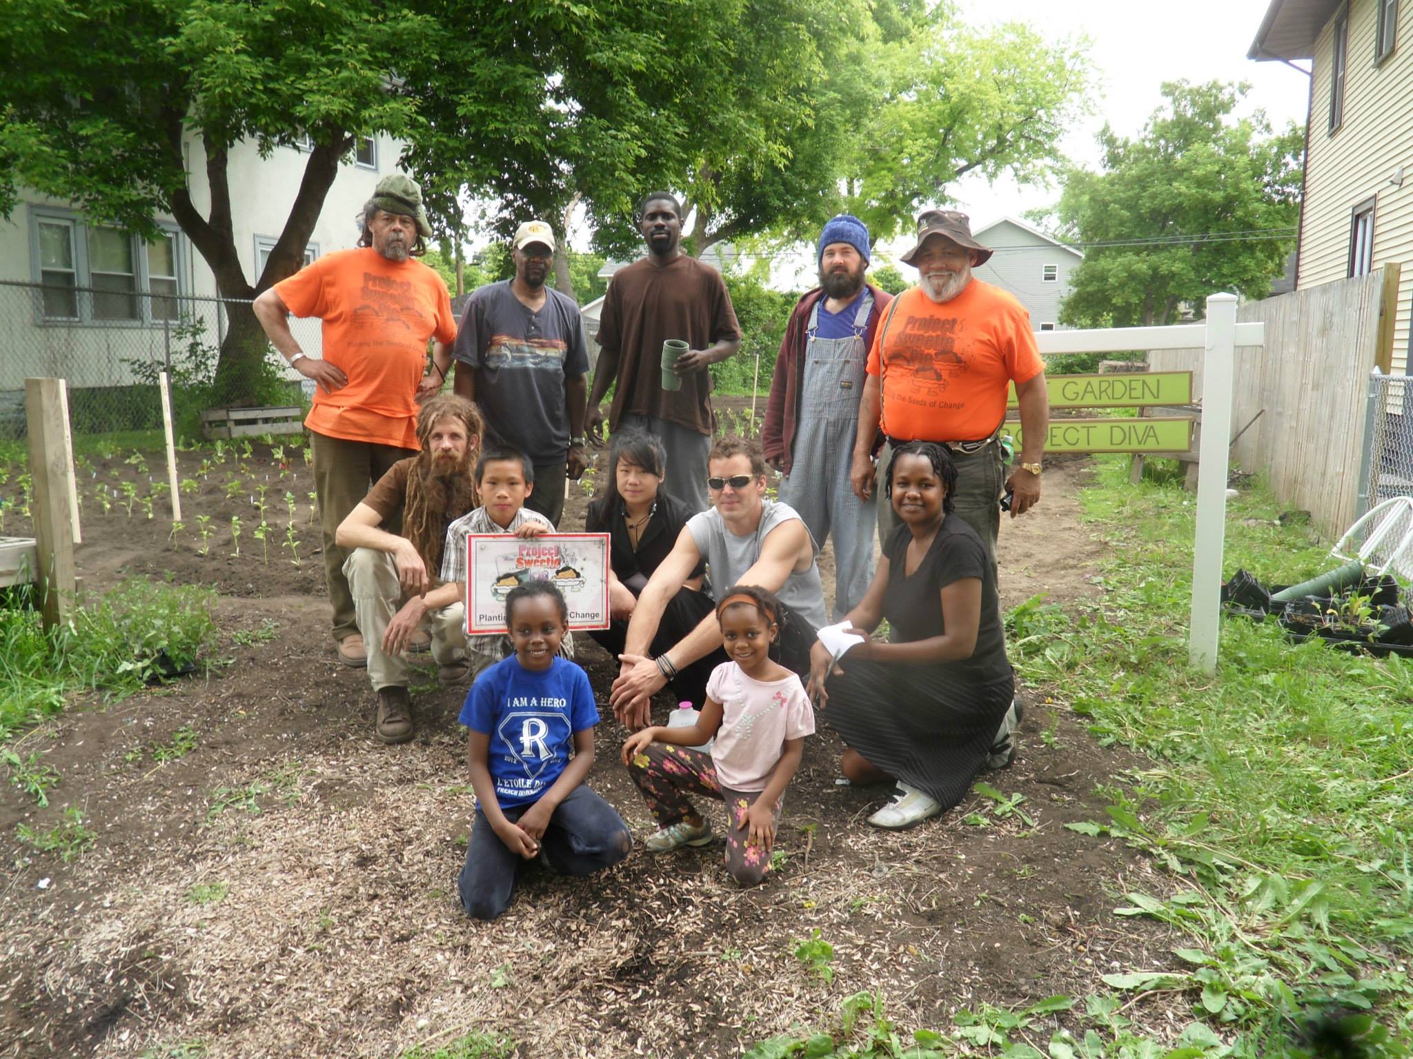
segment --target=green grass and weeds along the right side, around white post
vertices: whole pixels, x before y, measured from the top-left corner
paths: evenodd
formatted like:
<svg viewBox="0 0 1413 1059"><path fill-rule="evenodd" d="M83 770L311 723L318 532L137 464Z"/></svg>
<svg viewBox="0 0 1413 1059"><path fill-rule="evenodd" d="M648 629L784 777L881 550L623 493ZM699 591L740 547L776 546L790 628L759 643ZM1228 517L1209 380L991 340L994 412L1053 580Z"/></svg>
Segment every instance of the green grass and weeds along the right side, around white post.
<svg viewBox="0 0 1413 1059"><path fill-rule="evenodd" d="M1113 912L1171 925L1171 950L1102 974L1085 997L961 1008L942 1032L900 1035L883 1000L861 993L746 1059L1413 1055L1413 665L1234 617L1215 678L1190 669L1195 498L1170 479L1130 486L1126 457L1098 467L1081 504L1111 545L1105 594L1013 609L1007 648L1019 675L1098 743L1143 758L1102 789L1104 819L1067 826L1129 843L1166 871L1166 885L1123 894ZM1279 510L1259 489L1228 504L1225 575L1296 582L1332 565L1308 527L1275 525ZM974 823L1029 808L976 789ZM1145 1017L1177 1021L1150 1036Z"/></svg>

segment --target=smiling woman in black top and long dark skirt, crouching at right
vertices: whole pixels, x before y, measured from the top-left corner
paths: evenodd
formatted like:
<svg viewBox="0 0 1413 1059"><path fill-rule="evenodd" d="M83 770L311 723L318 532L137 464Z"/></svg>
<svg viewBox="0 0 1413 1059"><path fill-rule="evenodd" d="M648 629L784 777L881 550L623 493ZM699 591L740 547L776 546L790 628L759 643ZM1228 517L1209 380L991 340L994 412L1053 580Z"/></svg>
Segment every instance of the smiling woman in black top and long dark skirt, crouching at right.
<svg viewBox="0 0 1413 1059"><path fill-rule="evenodd" d="M876 827L911 827L957 805L1015 692L996 576L981 538L950 514L955 486L941 445L894 450L885 490L903 525L845 617L865 642L838 662L818 641L811 652L810 693L848 744L844 774L897 784L869 818ZM876 641L883 618L892 631Z"/></svg>

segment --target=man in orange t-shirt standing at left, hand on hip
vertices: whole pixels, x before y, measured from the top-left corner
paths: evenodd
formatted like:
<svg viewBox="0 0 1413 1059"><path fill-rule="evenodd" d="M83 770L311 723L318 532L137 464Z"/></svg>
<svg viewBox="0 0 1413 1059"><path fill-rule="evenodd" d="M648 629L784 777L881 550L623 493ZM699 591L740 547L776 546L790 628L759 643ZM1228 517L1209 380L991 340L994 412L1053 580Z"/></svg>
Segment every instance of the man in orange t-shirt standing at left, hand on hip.
<svg viewBox="0 0 1413 1059"><path fill-rule="evenodd" d="M304 421L314 450L314 486L324 534L324 575L333 604L339 661L367 665L363 637L335 532L401 459L415 456L417 401L441 388L451 366L456 318L447 284L421 261L431 236L422 192L401 174L379 181L363 208L357 250L341 250L284 280L254 302L270 342L315 381ZM324 321L324 357L314 360L290 333L288 313ZM434 374L427 373L427 342Z"/></svg>

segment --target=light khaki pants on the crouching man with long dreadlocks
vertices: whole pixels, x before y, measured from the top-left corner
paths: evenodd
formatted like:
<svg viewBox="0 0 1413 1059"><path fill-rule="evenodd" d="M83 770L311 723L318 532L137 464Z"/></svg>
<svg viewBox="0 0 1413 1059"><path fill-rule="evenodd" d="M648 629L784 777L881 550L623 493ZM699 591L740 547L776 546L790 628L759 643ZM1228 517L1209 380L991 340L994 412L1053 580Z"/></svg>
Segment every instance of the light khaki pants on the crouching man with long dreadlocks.
<svg viewBox="0 0 1413 1059"><path fill-rule="evenodd" d="M357 631L363 634L367 650L367 676L373 690L407 686L407 655L389 654L383 650L383 634L393 616L407 602L401 583L397 580L397 563L389 552L373 548L355 548L343 563L343 578L357 614ZM422 628L432 637L432 658L437 665L451 665L466 655L466 609L452 603L441 610L431 610L422 617ZM471 655L472 666L479 672L487 662L476 666L479 657ZM475 675L475 674L473 674Z"/></svg>

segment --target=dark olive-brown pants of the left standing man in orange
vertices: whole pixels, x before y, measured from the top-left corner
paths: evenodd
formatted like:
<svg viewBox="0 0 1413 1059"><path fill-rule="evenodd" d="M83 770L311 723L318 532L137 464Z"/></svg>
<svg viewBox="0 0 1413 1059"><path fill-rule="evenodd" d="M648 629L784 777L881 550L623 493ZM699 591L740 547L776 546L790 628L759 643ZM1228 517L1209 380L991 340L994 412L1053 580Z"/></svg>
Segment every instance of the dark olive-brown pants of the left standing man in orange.
<svg viewBox="0 0 1413 1059"><path fill-rule="evenodd" d="M343 576L349 554L333 542L333 534L349 511L367 496L373 483L397 460L415 456L417 450L329 438L315 431L309 432L309 448L314 450L314 490L324 535L324 579L329 586L329 603L333 604L333 638L342 642L343 637L357 633L357 620L353 616L349 583ZM383 528L397 532L397 525L384 524Z"/></svg>

